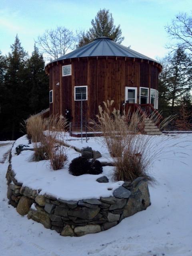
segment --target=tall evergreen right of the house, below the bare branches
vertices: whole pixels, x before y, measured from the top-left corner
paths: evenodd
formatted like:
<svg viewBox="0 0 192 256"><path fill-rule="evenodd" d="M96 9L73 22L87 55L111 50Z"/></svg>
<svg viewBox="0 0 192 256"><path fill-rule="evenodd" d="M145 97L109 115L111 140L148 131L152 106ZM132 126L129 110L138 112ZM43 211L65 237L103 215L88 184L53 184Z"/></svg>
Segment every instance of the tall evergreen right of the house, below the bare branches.
<svg viewBox="0 0 192 256"><path fill-rule="evenodd" d="M189 79L190 58L182 48L178 48L170 61L170 74L168 79L168 98L172 111L174 106L180 104L181 96L191 88Z"/></svg>

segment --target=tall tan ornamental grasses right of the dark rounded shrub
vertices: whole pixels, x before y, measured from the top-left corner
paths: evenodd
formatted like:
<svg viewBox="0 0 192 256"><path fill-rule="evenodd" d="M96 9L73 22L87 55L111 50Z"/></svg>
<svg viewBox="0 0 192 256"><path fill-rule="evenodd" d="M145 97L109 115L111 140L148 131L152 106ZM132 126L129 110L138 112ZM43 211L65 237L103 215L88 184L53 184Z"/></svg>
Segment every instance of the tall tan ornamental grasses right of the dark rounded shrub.
<svg viewBox="0 0 192 256"><path fill-rule="evenodd" d="M104 102L104 109L99 106L97 121L91 121L102 132L103 142L107 146L114 162L114 179L133 181L145 177L152 181L147 173L152 160L151 136L141 134L144 130L145 115L138 111L125 114L112 107L114 101Z"/></svg>

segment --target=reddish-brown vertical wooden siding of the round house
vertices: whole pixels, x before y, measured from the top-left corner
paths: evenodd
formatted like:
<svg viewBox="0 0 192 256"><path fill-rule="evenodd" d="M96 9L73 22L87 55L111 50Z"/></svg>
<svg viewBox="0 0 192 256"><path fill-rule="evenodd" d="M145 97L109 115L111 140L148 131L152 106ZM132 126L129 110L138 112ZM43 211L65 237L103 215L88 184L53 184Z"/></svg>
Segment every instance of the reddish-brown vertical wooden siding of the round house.
<svg viewBox="0 0 192 256"><path fill-rule="evenodd" d="M62 66L72 65L72 75L62 76ZM53 89L53 104L50 113L62 114L70 110L72 122L80 122L80 101L74 101L74 86L88 86L88 100L83 101L83 119L95 118L98 105L114 100L115 107L125 100L125 86L158 89L159 68L147 60L108 57L76 58L51 66L50 90ZM60 86L56 84L60 82ZM138 97L139 100L139 97ZM53 105L53 106L51 106Z"/></svg>

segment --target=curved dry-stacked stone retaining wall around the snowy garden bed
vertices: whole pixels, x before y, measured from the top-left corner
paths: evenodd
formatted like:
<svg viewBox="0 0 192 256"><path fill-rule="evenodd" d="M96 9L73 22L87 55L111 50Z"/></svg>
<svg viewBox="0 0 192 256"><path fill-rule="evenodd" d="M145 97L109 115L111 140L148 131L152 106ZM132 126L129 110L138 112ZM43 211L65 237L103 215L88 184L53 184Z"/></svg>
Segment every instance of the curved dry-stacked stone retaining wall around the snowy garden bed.
<svg viewBox="0 0 192 256"><path fill-rule="evenodd" d="M100 199L66 201L50 195L40 195L17 182L11 164L6 174L9 204L21 215L40 222L45 228L62 236L83 236L116 226L124 218L150 206L147 181L140 177L124 182L113 196Z"/></svg>

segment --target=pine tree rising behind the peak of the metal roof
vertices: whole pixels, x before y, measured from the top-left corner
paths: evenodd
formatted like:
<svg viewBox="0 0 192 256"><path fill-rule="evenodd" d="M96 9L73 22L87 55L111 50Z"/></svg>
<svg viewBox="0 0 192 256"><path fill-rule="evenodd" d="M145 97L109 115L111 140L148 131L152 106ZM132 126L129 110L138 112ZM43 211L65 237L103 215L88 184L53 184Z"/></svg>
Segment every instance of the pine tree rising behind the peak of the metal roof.
<svg viewBox="0 0 192 256"><path fill-rule="evenodd" d="M112 13L105 8L99 10L95 19L91 21L92 27L87 32L80 32L78 47L84 46L100 36L107 36L115 42L121 43L124 40L120 25L114 25Z"/></svg>

